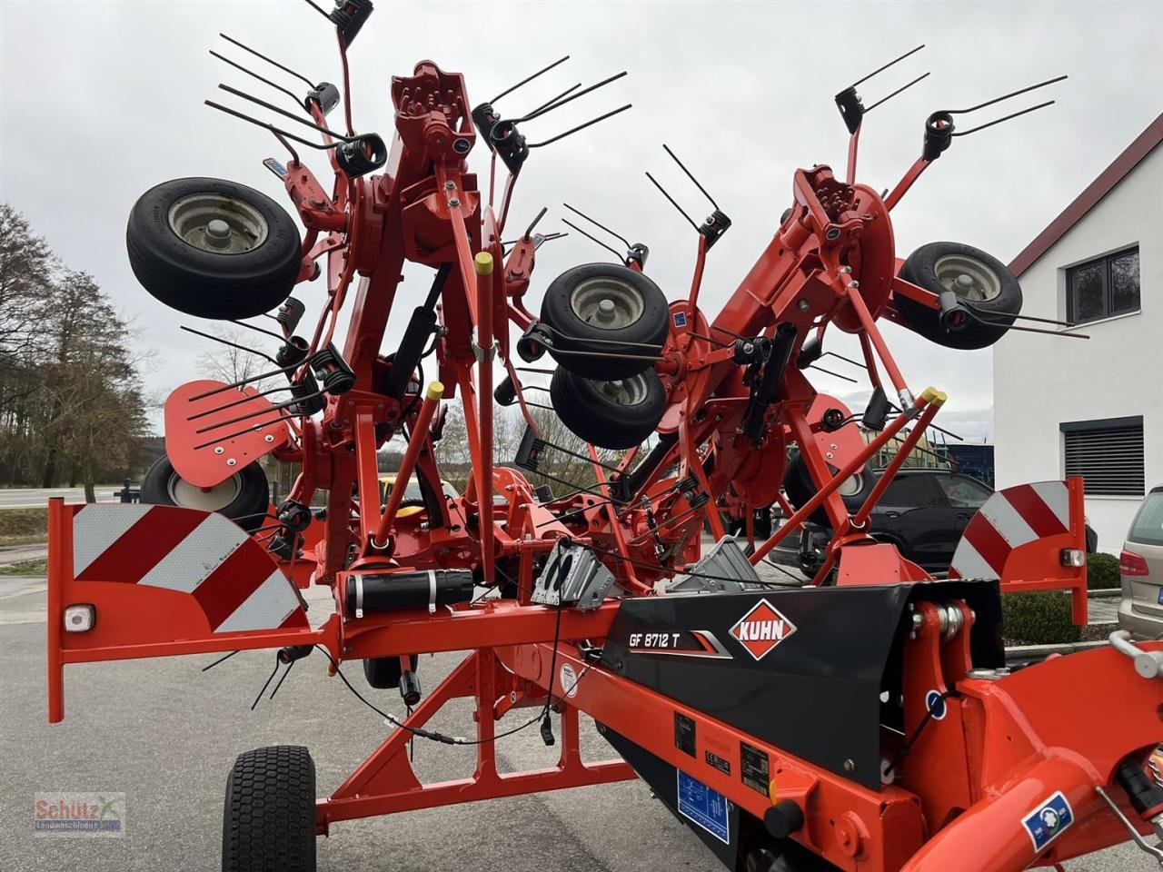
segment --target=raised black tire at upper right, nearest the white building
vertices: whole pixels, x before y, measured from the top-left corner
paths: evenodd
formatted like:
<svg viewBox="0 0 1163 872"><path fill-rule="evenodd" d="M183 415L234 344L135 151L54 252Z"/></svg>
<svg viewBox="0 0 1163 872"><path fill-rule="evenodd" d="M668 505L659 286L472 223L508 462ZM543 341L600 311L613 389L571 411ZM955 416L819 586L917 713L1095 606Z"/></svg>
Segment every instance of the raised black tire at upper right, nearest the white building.
<svg viewBox="0 0 1163 872"><path fill-rule="evenodd" d="M1018 277L996 257L980 249L975 249L972 245L964 245L959 242L930 242L928 245L921 245L908 256L904 266L900 267L900 278L930 293L940 294L947 288L937 280L935 267L937 260L948 255L959 255L979 260L983 266L989 267L997 276L998 295L992 300L975 301L966 307L972 315L978 315L984 321L993 323L982 323L971 316L962 329L946 333L944 328L941 327L936 309L930 309L902 295L893 298L897 313L913 333L920 334L937 345L954 349L989 348L1006 335L1014 317L1021 313L1021 285L1018 283Z"/></svg>

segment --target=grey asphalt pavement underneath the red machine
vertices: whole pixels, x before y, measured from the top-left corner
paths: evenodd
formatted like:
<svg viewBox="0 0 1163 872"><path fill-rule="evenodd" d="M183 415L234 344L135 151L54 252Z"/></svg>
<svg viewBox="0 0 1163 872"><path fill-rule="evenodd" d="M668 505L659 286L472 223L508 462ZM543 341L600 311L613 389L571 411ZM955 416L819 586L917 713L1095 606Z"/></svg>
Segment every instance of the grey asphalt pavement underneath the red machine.
<svg viewBox="0 0 1163 872"><path fill-rule="evenodd" d="M317 596L312 622L322 619ZM269 744L304 744L317 791L334 789L387 728L335 678L326 662L301 662L273 700L250 706L273 665L269 651L243 652L209 672L214 656L83 664L65 670L65 720L47 722L44 580L0 580L0 869L5 872L208 872L217 870L222 794L236 755ZM424 657L434 687L457 655ZM363 688L358 665L345 672ZM374 701L402 715L399 695ZM433 727L471 732L468 702ZM519 712L519 715L525 714ZM551 765L536 727L498 742L502 771ZM583 717L583 756L612 751ZM471 749L415 744L421 779L463 778ZM48 791L122 792L123 838L33 836L33 795ZM336 824L319 842L321 872L719 872L692 832L651 799L641 781L449 806ZM1070 872L1158 872L1121 845L1066 864Z"/></svg>

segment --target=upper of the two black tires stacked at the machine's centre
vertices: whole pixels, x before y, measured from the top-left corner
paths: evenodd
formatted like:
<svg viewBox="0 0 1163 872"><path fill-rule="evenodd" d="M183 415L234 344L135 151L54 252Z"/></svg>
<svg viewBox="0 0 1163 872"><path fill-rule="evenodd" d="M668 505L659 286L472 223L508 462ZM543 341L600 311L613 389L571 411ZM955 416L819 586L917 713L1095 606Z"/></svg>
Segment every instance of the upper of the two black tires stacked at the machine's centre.
<svg viewBox="0 0 1163 872"><path fill-rule="evenodd" d="M607 330L583 320L573 309L575 292L585 283L605 279L616 283L623 290L636 292L642 303L637 319L626 327ZM659 287L641 272L635 272L620 264L583 264L566 270L554 279L541 301L541 320L565 337L575 339L571 345L585 351L611 352L625 355L655 356L652 345L661 346L666 342L670 324L670 308L666 295ZM588 339L597 339L586 344ZM609 342L633 343L630 345L609 345ZM647 348L641 348L642 345ZM584 355L549 353L561 366L578 376L591 379L620 379L637 374L648 369L649 360L629 360L619 357L587 357Z"/></svg>

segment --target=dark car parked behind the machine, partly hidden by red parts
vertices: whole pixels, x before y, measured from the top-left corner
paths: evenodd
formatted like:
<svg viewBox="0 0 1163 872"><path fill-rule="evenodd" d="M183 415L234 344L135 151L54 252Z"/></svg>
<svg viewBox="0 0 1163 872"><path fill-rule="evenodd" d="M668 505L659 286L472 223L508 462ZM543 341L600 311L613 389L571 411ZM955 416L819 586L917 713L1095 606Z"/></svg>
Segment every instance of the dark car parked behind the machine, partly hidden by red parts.
<svg viewBox="0 0 1163 872"><path fill-rule="evenodd" d="M961 472L900 470L872 509L871 534L897 545L905 559L927 572L946 572L965 526L992 493ZM769 558L813 573L830 537L828 528L808 522L798 536L793 533L772 549ZM1086 538L1086 550L1093 551L1097 537L1090 528Z"/></svg>

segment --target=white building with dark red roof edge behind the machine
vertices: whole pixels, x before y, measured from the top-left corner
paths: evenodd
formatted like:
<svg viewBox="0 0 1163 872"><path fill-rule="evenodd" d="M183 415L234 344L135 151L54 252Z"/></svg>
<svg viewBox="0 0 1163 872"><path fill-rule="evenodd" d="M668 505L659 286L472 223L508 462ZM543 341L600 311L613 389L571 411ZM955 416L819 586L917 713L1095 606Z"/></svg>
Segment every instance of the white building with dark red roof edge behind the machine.
<svg viewBox="0 0 1163 872"><path fill-rule="evenodd" d="M1011 331L993 346L997 486L1084 476L1111 553L1163 485L1161 143L1163 115L1009 264L1023 315L1091 338Z"/></svg>

